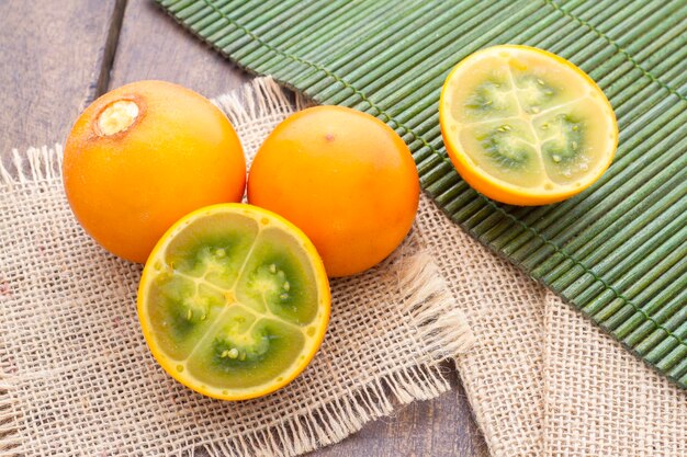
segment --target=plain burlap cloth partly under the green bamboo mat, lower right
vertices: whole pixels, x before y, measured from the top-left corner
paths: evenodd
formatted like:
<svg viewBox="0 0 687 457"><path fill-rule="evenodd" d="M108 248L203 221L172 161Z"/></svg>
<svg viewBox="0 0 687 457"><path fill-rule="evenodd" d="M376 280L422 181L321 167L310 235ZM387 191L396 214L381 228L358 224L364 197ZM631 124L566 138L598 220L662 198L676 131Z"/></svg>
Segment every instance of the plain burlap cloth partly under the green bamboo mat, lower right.
<svg viewBox="0 0 687 457"><path fill-rule="evenodd" d="M457 365L492 456L687 456L687 391L430 202L417 226L475 334Z"/></svg>

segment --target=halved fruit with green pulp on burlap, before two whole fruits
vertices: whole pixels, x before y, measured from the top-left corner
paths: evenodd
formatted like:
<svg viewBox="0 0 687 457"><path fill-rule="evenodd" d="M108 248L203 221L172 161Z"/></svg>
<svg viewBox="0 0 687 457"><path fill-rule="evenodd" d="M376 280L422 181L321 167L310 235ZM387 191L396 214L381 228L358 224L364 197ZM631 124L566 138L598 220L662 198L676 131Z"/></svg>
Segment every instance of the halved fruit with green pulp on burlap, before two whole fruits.
<svg viewBox="0 0 687 457"><path fill-rule="evenodd" d="M270 393L317 352L329 283L306 236L251 205L181 218L140 279L138 316L157 362L191 389L223 400Z"/></svg>

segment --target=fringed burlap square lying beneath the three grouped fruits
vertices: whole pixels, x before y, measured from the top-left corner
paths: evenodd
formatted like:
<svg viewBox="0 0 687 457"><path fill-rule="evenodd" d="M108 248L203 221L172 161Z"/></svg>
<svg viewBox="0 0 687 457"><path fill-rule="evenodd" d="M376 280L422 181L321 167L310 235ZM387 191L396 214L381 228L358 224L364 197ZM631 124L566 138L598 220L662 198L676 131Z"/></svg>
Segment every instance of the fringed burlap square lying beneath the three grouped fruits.
<svg viewBox="0 0 687 457"><path fill-rule="evenodd" d="M249 156L294 111L266 79L217 104ZM450 388L439 362L473 338L417 228L381 265L333 282L325 342L286 388L244 402L184 388L143 340L140 266L76 224L60 157L32 149L0 168L0 456L292 456Z"/></svg>

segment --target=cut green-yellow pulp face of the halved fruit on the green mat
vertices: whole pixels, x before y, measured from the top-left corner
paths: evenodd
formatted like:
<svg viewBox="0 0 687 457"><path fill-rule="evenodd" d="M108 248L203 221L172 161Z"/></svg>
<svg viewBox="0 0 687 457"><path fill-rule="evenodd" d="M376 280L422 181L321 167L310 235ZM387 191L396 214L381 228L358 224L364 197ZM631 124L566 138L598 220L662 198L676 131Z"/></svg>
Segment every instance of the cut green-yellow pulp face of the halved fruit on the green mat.
<svg viewBox="0 0 687 457"><path fill-rule="evenodd" d="M552 190L581 186L602 167L613 116L584 76L531 52L474 59L449 103L462 150L477 168L520 187Z"/></svg>

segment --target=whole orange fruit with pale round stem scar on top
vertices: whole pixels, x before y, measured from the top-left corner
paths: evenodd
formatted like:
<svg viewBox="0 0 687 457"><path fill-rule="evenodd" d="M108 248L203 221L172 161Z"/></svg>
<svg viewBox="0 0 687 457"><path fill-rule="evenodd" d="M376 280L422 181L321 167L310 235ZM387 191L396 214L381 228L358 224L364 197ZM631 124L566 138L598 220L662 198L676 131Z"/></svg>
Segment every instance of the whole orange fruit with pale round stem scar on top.
<svg viewBox="0 0 687 457"><path fill-rule="evenodd" d="M232 124L207 99L170 82L138 81L81 113L65 146L63 179L86 231L143 263L181 216L240 202L246 162Z"/></svg>

